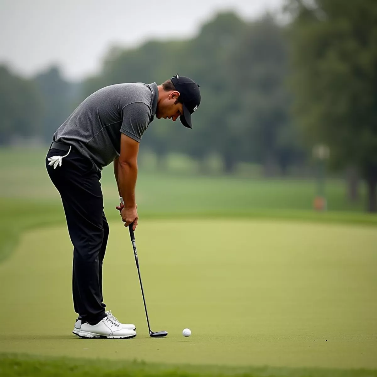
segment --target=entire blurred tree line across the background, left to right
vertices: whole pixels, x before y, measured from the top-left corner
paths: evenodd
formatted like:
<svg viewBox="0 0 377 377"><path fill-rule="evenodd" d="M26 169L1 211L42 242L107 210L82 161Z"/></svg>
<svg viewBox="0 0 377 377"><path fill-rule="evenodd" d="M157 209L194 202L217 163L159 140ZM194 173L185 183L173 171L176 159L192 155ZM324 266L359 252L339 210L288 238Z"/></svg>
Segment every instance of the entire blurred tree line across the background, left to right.
<svg viewBox="0 0 377 377"><path fill-rule="evenodd" d="M159 161L184 153L213 155L227 173L239 162L261 164L265 176L307 164L314 144L331 149L334 169L352 167L368 182L377 211L377 2L287 0L290 23L269 14L247 22L216 15L189 40L150 40L112 48L98 75L64 80L57 67L31 80L0 67L0 144L13 136L46 142L87 95L121 82L162 83L192 77L202 102L194 129L155 120L142 147ZM205 164L201 164L205 172Z"/></svg>

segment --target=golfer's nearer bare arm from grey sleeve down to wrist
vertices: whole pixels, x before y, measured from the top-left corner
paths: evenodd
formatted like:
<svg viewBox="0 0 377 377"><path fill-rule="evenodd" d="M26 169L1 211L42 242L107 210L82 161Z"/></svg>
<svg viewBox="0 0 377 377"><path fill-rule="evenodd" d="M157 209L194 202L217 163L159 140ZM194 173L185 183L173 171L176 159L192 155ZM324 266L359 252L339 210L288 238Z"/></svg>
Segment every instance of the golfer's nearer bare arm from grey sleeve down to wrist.
<svg viewBox="0 0 377 377"><path fill-rule="evenodd" d="M118 188L127 208L136 206L135 186L138 177L138 153L139 143L122 133L118 158Z"/></svg>

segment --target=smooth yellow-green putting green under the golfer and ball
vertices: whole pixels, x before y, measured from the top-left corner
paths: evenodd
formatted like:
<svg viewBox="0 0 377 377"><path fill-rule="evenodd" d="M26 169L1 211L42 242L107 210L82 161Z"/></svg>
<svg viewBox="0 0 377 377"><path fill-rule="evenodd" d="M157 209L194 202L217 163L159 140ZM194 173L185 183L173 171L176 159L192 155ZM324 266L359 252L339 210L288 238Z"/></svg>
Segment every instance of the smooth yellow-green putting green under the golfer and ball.
<svg viewBox="0 0 377 377"><path fill-rule="evenodd" d="M66 227L26 233L0 265L0 352L216 365L377 367L377 231L273 221L142 221L135 232L150 339L128 231L110 224L107 308L132 340L71 334ZM184 338L188 327L192 336ZM327 340L327 341L326 341Z"/></svg>

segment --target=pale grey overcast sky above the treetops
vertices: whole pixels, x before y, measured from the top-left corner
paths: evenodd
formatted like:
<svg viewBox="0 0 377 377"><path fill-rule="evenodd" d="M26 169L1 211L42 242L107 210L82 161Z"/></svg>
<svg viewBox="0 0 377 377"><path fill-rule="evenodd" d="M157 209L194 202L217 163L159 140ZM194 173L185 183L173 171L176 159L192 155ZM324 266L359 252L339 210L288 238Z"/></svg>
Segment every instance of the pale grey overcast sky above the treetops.
<svg viewBox="0 0 377 377"><path fill-rule="evenodd" d="M31 75L52 63L79 79L112 44L190 37L223 9L255 18L283 0L0 0L0 63Z"/></svg>

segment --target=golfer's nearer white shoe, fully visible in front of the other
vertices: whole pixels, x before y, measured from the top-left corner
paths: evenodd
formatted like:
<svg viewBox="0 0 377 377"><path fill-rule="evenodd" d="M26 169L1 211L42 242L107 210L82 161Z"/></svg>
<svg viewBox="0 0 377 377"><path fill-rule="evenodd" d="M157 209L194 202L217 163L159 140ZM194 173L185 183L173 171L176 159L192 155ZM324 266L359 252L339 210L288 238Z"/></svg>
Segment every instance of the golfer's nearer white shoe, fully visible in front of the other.
<svg viewBox="0 0 377 377"><path fill-rule="evenodd" d="M136 336L136 331L124 329L115 323L109 316L97 323L89 325L82 323L78 336L81 338L104 338L104 339L129 339Z"/></svg>

